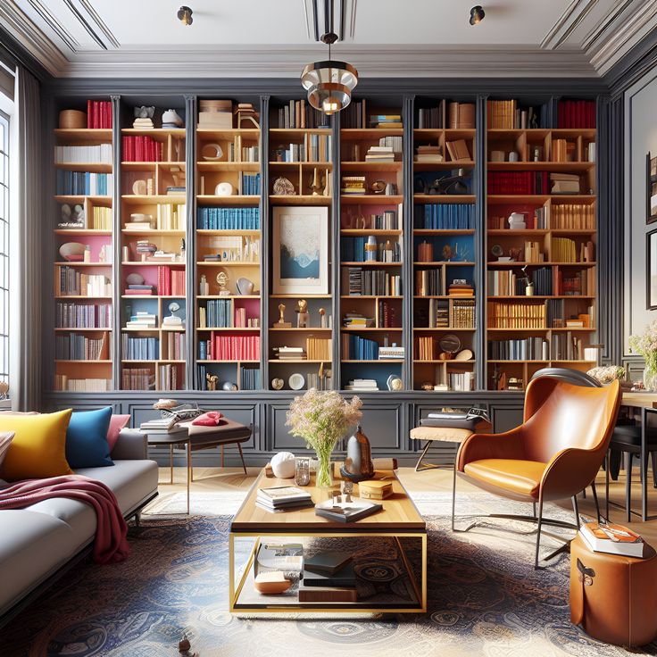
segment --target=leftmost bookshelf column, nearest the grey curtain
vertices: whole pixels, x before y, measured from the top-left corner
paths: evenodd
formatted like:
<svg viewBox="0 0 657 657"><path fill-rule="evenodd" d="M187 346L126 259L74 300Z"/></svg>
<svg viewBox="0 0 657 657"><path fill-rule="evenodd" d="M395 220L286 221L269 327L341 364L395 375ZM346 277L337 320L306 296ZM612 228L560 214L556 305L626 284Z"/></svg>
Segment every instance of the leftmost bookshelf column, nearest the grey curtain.
<svg viewBox="0 0 657 657"><path fill-rule="evenodd" d="M105 102L111 115L111 102ZM111 390L112 129L55 129L54 145L53 386ZM84 251L69 260L63 245Z"/></svg>

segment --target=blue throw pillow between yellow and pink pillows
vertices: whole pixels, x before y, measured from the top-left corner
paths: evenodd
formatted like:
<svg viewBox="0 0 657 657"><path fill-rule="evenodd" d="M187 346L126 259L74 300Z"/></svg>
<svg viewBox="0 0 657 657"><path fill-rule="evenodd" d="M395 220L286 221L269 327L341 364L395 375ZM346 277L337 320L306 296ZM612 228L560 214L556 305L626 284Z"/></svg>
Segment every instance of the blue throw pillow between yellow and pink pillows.
<svg viewBox="0 0 657 657"><path fill-rule="evenodd" d="M107 443L111 418L112 406L71 414L66 431L66 460L73 470L114 465Z"/></svg>

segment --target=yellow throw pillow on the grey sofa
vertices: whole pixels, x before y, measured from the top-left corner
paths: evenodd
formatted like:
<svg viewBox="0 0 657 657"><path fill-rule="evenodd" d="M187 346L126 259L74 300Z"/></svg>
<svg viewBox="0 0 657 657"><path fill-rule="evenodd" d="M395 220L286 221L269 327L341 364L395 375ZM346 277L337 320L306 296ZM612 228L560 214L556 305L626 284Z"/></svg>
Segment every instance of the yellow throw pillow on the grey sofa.
<svg viewBox="0 0 657 657"><path fill-rule="evenodd" d="M0 415L0 431L14 437L0 466L7 481L70 475L66 461L66 429L71 409L40 415Z"/></svg>

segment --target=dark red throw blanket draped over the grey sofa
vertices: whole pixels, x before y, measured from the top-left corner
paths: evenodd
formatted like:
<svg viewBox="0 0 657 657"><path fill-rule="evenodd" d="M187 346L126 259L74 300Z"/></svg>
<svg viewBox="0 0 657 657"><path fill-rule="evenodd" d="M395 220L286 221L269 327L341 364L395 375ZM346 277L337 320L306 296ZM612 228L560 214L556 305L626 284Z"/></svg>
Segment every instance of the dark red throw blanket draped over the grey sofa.
<svg viewBox="0 0 657 657"><path fill-rule="evenodd" d="M0 488L0 510L24 509L53 497L69 497L90 504L96 511L94 561L114 563L128 558L128 526L112 489L82 475L27 479Z"/></svg>

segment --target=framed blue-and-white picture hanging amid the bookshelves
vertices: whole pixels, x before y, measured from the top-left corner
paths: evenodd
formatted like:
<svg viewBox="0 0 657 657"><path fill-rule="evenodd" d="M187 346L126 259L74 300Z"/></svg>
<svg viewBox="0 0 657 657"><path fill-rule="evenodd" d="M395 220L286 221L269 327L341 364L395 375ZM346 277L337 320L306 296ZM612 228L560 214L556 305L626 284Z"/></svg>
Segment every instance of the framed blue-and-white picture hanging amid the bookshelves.
<svg viewBox="0 0 657 657"><path fill-rule="evenodd" d="M273 294L328 295L328 208L275 207Z"/></svg>

